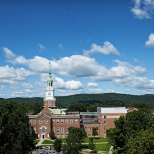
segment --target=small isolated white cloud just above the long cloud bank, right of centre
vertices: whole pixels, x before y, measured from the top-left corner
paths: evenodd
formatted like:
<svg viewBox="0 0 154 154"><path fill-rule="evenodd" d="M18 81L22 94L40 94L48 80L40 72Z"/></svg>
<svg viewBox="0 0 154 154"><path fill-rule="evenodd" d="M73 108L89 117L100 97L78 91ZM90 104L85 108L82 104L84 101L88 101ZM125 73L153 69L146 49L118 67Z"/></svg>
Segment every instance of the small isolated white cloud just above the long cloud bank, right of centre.
<svg viewBox="0 0 154 154"><path fill-rule="evenodd" d="M86 55L86 56L93 54L93 53L102 53L102 54L105 54L105 55L108 55L108 54L120 55L120 53L116 49L116 47L114 47L114 45L111 44L108 41L104 42L103 46L99 46L99 45L93 43L91 45L90 50L84 50L83 52L84 52L84 55Z"/></svg>

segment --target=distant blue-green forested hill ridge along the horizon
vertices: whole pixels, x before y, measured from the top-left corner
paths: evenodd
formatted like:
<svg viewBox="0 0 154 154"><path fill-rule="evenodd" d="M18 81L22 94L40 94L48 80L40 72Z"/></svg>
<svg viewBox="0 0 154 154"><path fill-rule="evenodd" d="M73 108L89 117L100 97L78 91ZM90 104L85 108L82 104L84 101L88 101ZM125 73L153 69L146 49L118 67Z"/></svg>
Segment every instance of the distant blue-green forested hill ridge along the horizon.
<svg viewBox="0 0 154 154"><path fill-rule="evenodd" d="M43 102L43 98L9 98L0 99L6 101L14 101L19 103L29 103L29 102ZM62 104L62 106L68 106L74 103L148 103L154 104L154 95L128 95L128 94L118 94L118 93L105 93L105 94L77 94L70 96L57 96L57 103Z"/></svg>

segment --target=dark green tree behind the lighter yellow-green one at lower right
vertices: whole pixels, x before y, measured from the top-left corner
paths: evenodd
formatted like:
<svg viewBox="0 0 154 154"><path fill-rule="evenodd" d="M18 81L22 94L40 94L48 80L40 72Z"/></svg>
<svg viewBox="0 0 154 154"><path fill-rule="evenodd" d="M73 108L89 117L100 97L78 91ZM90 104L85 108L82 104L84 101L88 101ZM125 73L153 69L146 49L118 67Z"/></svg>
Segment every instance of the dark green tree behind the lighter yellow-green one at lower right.
<svg viewBox="0 0 154 154"><path fill-rule="evenodd" d="M142 147L144 144L139 140L139 137L143 135L144 139L146 137L144 133L148 129L154 132L153 123L154 117L147 108L127 113L126 117L120 117L115 122L115 128L107 131L107 137L109 137L111 145L114 146L115 153L129 153L128 147L132 147L131 149L133 149L134 145L131 145L133 142L136 142L137 147L140 147L139 145ZM138 134L140 131L141 133ZM135 154L133 151L130 153Z"/></svg>

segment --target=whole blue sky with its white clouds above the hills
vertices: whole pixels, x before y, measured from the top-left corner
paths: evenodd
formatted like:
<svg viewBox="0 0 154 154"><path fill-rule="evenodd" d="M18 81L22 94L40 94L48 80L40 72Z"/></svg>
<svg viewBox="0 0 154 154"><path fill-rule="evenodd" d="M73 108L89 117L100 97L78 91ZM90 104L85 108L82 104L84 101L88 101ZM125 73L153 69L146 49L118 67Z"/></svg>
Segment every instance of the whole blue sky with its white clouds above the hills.
<svg viewBox="0 0 154 154"><path fill-rule="evenodd" d="M153 94L154 0L1 0L0 97Z"/></svg>

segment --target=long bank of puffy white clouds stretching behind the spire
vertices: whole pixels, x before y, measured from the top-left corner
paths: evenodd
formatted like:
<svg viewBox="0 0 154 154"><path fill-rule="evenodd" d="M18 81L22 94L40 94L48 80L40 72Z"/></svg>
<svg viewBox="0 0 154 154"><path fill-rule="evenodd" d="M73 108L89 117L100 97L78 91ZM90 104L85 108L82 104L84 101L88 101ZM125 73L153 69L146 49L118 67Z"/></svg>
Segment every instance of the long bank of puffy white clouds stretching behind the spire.
<svg viewBox="0 0 154 154"><path fill-rule="evenodd" d="M0 72L3 72L0 74L0 79L2 79L0 80L0 83L16 84L16 81L22 81L34 74L41 74L40 81L37 81L36 84L41 87L45 87L50 61L53 74L57 73L57 75L63 75L69 78L78 78L79 80L80 78L93 79L94 82L88 83L88 87L97 86L95 81L111 81L117 85L120 84L126 87L154 89L153 80L146 77L140 77L146 73L146 69L144 67L134 66L128 62L120 60L114 60L114 66L107 68L104 65L98 64L94 58L83 55L72 55L70 57L63 57L59 60L48 60L47 58L40 56L26 59L25 57L15 55L14 53L13 55L14 56L8 57L10 63L23 64L31 71L24 68L14 69L8 65L0 67ZM83 85L79 80L68 79L68 81L64 81L57 76L53 76L53 78L54 87L56 89L67 89L70 93L74 93L72 91L84 91ZM28 88L30 85L25 84L21 86L27 89L27 92L32 89ZM97 89L99 91L99 88Z"/></svg>

